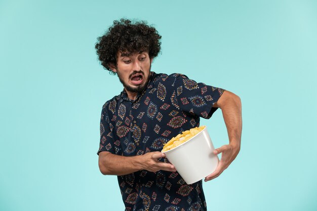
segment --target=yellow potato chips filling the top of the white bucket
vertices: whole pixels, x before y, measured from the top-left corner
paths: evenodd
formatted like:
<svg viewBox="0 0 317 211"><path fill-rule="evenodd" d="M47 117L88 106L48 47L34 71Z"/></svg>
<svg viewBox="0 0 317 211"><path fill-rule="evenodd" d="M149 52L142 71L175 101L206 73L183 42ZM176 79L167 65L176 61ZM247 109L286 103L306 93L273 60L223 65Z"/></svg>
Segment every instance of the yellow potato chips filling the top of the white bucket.
<svg viewBox="0 0 317 211"><path fill-rule="evenodd" d="M162 152L171 150L174 147L177 147L178 145L188 141L190 138L192 138L205 128L206 126L200 126L199 128L192 128L188 131L184 131L182 134L178 134L176 137L173 137L169 142L164 144Z"/></svg>

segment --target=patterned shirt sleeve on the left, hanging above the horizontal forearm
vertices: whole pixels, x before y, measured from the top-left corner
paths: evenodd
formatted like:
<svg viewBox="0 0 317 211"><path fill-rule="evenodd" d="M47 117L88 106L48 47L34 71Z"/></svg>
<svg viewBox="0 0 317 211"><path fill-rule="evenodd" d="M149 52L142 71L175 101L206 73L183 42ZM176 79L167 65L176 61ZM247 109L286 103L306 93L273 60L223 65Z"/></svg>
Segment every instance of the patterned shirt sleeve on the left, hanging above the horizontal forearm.
<svg viewBox="0 0 317 211"><path fill-rule="evenodd" d="M99 152L107 151L115 154L114 138L110 127L109 116L107 114L107 104L102 107L100 117L100 145L97 154Z"/></svg>

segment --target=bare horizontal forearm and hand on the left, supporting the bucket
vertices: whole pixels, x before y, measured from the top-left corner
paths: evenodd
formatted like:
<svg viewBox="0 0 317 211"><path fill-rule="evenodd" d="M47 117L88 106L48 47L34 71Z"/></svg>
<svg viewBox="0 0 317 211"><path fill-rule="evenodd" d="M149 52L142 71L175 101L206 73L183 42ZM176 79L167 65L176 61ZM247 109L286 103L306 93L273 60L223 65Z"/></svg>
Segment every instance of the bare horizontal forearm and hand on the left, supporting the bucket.
<svg viewBox="0 0 317 211"><path fill-rule="evenodd" d="M128 175L140 170L176 172L174 165L159 161L165 157L162 152L148 152L137 156L115 155L107 151L99 152L99 169L103 175Z"/></svg>

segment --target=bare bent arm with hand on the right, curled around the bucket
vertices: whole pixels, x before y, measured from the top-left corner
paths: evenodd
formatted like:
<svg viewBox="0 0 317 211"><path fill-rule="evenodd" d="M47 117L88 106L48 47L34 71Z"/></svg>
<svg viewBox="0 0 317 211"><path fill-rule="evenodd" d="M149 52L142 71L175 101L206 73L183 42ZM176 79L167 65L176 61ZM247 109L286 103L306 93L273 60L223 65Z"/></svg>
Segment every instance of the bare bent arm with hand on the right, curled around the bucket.
<svg viewBox="0 0 317 211"><path fill-rule="evenodd" d="M205 182L218 177L230 165L239 153L241 145L242 114L240 98L231 92L224 91L213 107L218 107L222 111L228 131L229 144L214 150L215 154L222 153L221 159L216 170L206 177Z"/></svg>

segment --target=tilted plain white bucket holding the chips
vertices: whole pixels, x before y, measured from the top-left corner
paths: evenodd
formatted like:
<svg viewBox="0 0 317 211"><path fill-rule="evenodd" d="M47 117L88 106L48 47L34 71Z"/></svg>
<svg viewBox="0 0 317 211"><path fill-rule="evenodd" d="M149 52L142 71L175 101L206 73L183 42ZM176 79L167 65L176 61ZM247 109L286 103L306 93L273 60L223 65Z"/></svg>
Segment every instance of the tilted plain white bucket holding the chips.
<svg viewBox="0 0 317 211"><path fill-rule="evenodd" d="M181 145L163 152L189 185L213 173L219 162L207 127Z"/></svg>

